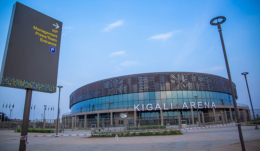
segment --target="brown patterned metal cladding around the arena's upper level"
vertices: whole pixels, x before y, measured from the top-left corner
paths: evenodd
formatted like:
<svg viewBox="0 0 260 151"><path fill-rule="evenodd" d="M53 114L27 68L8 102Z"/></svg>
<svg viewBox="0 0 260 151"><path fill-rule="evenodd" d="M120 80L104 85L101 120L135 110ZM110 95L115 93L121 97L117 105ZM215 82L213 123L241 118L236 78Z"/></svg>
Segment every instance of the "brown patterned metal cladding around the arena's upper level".
<svg viewBox="0 0 260 151"><path fill-rule="evenodd" d="M237 99L234 83L233 86ZM134 74L101 80L80 87L70 95L70 108L80 101L96 97L174 90L214 91L231 95L228 79L211 74L185 72Z"/></svg>

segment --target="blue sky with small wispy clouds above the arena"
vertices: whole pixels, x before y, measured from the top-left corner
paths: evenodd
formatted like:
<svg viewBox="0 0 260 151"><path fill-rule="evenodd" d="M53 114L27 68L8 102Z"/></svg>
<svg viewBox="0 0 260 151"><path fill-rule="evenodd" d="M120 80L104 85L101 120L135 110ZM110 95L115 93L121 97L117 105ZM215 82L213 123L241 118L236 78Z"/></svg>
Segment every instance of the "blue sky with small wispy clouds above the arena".
<svg viewBox="0 0 260 151"><path fill-rule="evenodd" d="M0 2L1 61L15 2ZM183 71L228 78L219 32L209 23L216 16L227 18L221 26L237 103L250 106L241 75L249 72L253 106L260 109L259 1L19 2L63 22L57 82L64 86L61 115L70 111L74 90L110 77ZM25 90L0 87L0 96L0 105L15 103L13 118L22 119ZM33 92L31 104L36 104L37 119L43 105L55 105L56 118L58 93Z"/></svg>

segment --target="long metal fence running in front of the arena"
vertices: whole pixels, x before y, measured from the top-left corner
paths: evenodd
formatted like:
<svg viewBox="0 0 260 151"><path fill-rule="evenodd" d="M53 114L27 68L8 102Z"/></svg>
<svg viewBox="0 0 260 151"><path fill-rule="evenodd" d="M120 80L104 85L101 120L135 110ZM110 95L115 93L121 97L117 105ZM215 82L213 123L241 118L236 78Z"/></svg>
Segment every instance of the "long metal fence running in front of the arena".
<svg viewBox="0 0 260 151"><path fill-rule="evenodd" d="M254 110L256 119L260 120L260 109ZM96 125L101 130L124 129L165 129L221 125L236 122L235 111L221 111L219 113L181 114L173 116L127 117L127 118L99 118L99 119L60 119L59 125L64 129L86 130ZM238 122L253 120L252 110L239 111ZM56 119L29 120L29 129L56 129ZM200 122L200 123L199 123ZM22 120L0 122L0 129L21 129Z"/></svg>

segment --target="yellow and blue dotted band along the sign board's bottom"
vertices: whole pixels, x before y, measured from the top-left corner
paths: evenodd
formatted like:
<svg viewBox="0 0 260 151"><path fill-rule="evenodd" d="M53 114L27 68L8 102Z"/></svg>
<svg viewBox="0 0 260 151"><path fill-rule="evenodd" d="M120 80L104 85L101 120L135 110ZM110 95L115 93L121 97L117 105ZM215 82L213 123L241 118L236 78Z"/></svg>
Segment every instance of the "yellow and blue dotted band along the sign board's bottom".
<svg viewBox="0 0 260 151"><path fill-rule="evenodd" d="M23 87L23 88L37 89L37 90L42 90L42 91L56 92L56 85L49 85L49 84L44 84L44 83L39 83L39 82L26 81L26 80L11 78L11 77L3 77L2 84L18 86L18 87Z"/></svg>

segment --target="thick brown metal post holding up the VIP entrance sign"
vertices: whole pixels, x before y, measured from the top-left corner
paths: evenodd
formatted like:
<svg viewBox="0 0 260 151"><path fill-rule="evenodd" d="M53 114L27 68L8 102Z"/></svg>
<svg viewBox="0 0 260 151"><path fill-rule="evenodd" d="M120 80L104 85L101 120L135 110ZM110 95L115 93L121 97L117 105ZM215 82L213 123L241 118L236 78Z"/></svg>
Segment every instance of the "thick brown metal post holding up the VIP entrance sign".
<svg viewBox="0 0 260 151"><path fill-rule="evenodd" d="M24 111L23 111L23 121L22 121L22 129L21 129L21 138L25 138L23 136L27 136L27 134L28 134L32 93L33 93L33 89L28 89L28 88L26 89ZM26 149L25 140L20 140L19 151L25 151L25 149Z"/></svg>

